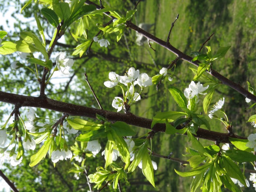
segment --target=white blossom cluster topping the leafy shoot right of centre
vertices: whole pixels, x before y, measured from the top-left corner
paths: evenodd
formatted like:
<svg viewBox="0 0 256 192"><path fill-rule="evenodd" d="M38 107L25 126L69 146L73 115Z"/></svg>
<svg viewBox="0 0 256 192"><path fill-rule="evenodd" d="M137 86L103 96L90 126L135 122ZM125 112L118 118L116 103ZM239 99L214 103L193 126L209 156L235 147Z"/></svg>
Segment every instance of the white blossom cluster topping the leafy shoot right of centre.
<svg viewBox="0 0 256 192"><path fill-rule="evenodd" d="M196 84L194 81L192 81L190 85L188 85L188 88L185 89L184 95L187 99L192 99L193 97L198 96L198 93L201 95L206 95L204 92L208 87L209 85L204 87L203 84L200 84L200 82Z"/></svg>

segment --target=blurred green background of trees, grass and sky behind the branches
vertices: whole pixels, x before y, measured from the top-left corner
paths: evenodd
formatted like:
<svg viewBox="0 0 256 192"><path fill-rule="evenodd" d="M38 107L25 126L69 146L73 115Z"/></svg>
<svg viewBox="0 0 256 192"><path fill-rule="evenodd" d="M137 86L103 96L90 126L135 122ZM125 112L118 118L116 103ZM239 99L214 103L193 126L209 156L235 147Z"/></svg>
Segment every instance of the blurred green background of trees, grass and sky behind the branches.
<svg viewBox="0 0 256 192"><path fill-rule="evenodd" d="M47 3L54 1L45 0L38 1L37 3L32 1L32 3L28 4L28 6L23 9L22 15L24 18L20 17L20 9L27 2L28 1L1 1L0 9L4 16L2 19L5 19L8 25L11 18L6 18L5 13L13 10L12 18L15 20L14 25L10 26L10 30L4 28L5 25L0 25L0 30L8 32L8 35L4 37L3 41L18 41L20 39L20 32L25 31L33 32L37 37L40 37L40 30L38 30L34 17L34 14L36 14L44 31L47 51L54 31L59 23L57 23L55 28L50 25L49 20L43 15L42 9L47 7L52 9L52 6L49 6ZM86 1L86 3L88 2L90 1ZM91 2L100 5L99 1L92 0ZM133 10L137 2L138 1L130 0L102 0L102 5L106 8L106 12L115 10L120 16L125 17L126 12ZM214 33L211 39L205 44L211 46L212 52L216 53L219 47L231 46L231 48L226 53L225 57L214 61L212 68L222 76L227 77L245 89L247 89L246 81L250 82L251 86L254 87L256 83L254 76L256 72L254 67L256 50L253 48L256 43L256 4L245 0L227 0L224 2L219 0L214 2L204 0L145 0L140 1L136 9L137 11L134 16L131 17L132 23L137 26L139 26L140 23L152 24L152 27L148 29L147 32L164 41L166 41L168 37L172 22L179 13L179 18L172 28L169 42L172 46L187 55L190 55L191 52L198 51L208 37ZM67 52L67 58L72 58L74 65L69 70L69 75L62 75L60 72L54 73L54 76L45 89L45 95L48 98L80 106L99 108L90 87L85 81L84 73L86 72L88 80L102 108L116 112L116 109L111 105L112 101L115 97L123 97L123 93L119 87L107 88L104 85L104 82L108 80L109 72L113 71L120 76L124 76L129 68L134 67L135 69L139 69L140 73L145 72L150 77L153 77L159 74L161 68L167 68L170 63L177 58L177 55L160 44L151 43L155 51L148 46L147 40L145 43L138 45L138 43L136 43L138 34L136 31L132 30L129 23L127 23L128 27L124 27L124 33L118 42L117 36L119 31L113 33L105 31L103 35L100 29L103 30L103 27L105 27L104 24L108 22L111 22L113 26L111 18L103 13L92 14L81 17L67 27L65 34L61 38L61 43L58 41L53 49L51 56L53 62L52 70L56 66L55 58L59 52ZM121 26L122 23L119 25ZM102 36L102 38L107 39L109 45L107 47L101 47L100 44L94 42L90 47L90 51L87 52L89 48L88 45L93 42L92 39L95 36L99 36L100 38ZM80 44L83 44L83 46L78 48L77 46ZM86 49L84 47L86 47ZM83 48L83 52L77 51ZM74 54L74 51L77 51L77 54ZM204 47L201 52L206 54L207 51L208 50ZM42 53L39 52L34 55L36 58L45 61ZM36 76L34 76L28 68L23 67L18 70L11 68L13 61L20 61L25 64L26 60L20 58L17 52L0 55L0 58L2 61L0 62L1 92L38 97L41 90L38 83L39 80ZM27 66L32 68L35 64L28 63ZM41 78L44 67L37 65L37 69L39 77ZM173 69L174 68L168 71L169 75L174 72L172 75L173 80L171 82L168 81L169 75L167 75L167 78L159 85L158 91L155 85L145 87L140 95L141 99L130 108L132 114L147 119L153 119L159 112L182 111L177 105L175 98L170 94L169 89L171 86L178 87L183 92L194 78L195 74L192 71L193 69L197 71L197 67L189 64L186 60L180 59L175 63L175 71ZM46 75L46 79L49 78L52 70ZM204 84L204 87L208 85L210 81L219 82L217 78L212 77L206 72L195 82L198 81ZM253 94L253 92L251 93ZM207 94L209 94L209 92L207 92ZM232 122L233 133L247 138L249 134L255 132L254 127L250 123L246 123L249 117L254 114L254 107L249 108L250 104L245 102L244 95L222 84L216 87L212 100L209 103L209 109L223 97L225 98L224 109L228 114L229 121ZM198 106L197 113L203 113L206 121L209 122L211 126L211 131L227 133L226 127L221 121L210 119L208 114L204 113L202 105L203 100L204 97L199 99L200 105ZM2 116L0 121L1 124L4 125L14 109L14 105L6 104L6 102L3 101L0 102L0 107L0 115ZM38 119L38 122L51 124L51 126L62 116L62 113L58 112L58 110L54 111L43 107L34 109L36 109L36 117L42 118ZM20 113L23 118L25 118L27 110L28 108L26 107L20 108ZM122 111L121 113L124 113L124 110ZM72 116L72 118L73 117L74 116ZM81 116L75 117L100 124L99 120L92 120L91 118ZM11 118L8 126L10 126L13 121L14 117ZM110 121L112 120L110 119ZM178 122L177 124L183 123L184 122ZM140 139L146 139L148 132L151 131L138 126L130 127L136 132L136 135L132 138L141 137ZM202 128L206 129L207 126L202 125ZM100 139L101 151L96 157L93 157L92 153L86 149L87 142L79 142L76 140L76 137L79 136L80 133L81 131L76 134L65 133L68 148L73 152L73 158L71 158L71 160L59 161L55 165L47 154L39 164L30 167L30 157L42 147L42 143L40 143L36 145L34 151L30 150L25 152L22 162L19 165L12 166L9 163L4 163L1 170L14 182L15 187L19 191L89 191L90 188L87 184L87 177L96 172L97 167L104 167L105 159L104 156L101 156L101 152L104 150L109 139L107 137ZM153 136L151 141L152 151L156 154L160 154L160 157L165 156L165 158L159 158L157 155L154 156L154 154L150 156L151 160L155 161L157 164L157 170L154 171L155 188L145 178L141 169L136 168L134 172L127 174L128 182L120 180L119 190L191 190L190 185L193 181L193 177L180 177L174 171L174 169L176 169L180 172L188 172L191 170L191 167L187 164L188 162L175 162L166 158L171 156L178 160L187 161L191 157L191 151L189 152L189 147L191 146L189 137L182 134L165 134L164 132L157 132ZM199 141L203 146L215 144L212 140L199 139ZM137 140L135 145L140 146L142 143L143 141ZM150 145L148 145L148 147L149 146ZM221 146L222 144L220 148ZM230 149L233 148L237 148L237 146L230 147ZM74 158L75 156L81 157L83 161L77 161L77 159ZM239 165L241 169L243 169L243 165L241 165L242 162L240 162ZM201 162L199 162L198 165L200 163ZM122 164L118 165L122 166ZM253 170L253 165L250 163L246 163L244 166L245 169ZM249 180L250 173L245 172L244 175ZM105 183L103 185L105 185ZM91 185L94 187L95 183L91 183ZM228 191L228 189L232 188L228 188L227 185L228 184L225 184L225 187L222 185L220 189L222 191ZM254 187L251 183L248 188L240 188L237 185L237 190L238 189L252 191ZM94 188L92 190L95 191L96 189ZM111 183L103 188L102 191L118 191L118 189L113 189ZM210 188L208 191L210 191Z"/></svg>

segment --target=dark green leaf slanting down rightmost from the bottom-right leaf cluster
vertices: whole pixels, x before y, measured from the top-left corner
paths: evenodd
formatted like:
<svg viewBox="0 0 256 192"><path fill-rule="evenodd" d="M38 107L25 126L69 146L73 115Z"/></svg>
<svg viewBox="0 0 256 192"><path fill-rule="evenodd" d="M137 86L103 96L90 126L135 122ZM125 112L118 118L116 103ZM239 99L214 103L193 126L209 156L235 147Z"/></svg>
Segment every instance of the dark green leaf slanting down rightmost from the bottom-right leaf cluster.
<svg viewBox="0 0 256 192"><path fill-rule="evenodd" d="M239 180L244 186L246 186L244 176L237 164L235 164L232 160L228 159L225 156L222 156L222 159L224 168L228 173L228 176Z"/></svg>

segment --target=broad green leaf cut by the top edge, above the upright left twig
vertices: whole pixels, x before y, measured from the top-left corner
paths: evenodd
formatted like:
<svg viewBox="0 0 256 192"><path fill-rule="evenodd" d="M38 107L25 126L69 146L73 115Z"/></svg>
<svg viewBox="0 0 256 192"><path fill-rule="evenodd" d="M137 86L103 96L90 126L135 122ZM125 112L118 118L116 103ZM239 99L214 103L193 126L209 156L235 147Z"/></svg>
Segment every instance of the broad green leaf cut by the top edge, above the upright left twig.
<svg viewBox="0 0 256 192"><path fill-rule="evenodd" d="M68 3L62 3L59 2L59 0L53 0L52 8L54 12L59 16L60 20L64 20L64 23L66 23L70 14Z"/></svg>

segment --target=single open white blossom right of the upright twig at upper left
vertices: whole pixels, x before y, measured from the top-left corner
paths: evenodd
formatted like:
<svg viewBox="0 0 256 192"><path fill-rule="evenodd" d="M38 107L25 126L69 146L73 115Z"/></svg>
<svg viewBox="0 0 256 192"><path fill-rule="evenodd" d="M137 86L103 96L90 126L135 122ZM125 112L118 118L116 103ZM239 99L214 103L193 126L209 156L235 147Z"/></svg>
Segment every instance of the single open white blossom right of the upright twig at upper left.
<svg viewBox="0 0 256 192"><path fill-rule="evenodd" d="M66 52L60 52L56 57L57 67L63 75L69 75L69 69L73 66L73 59L66 59Z"/></svg>

